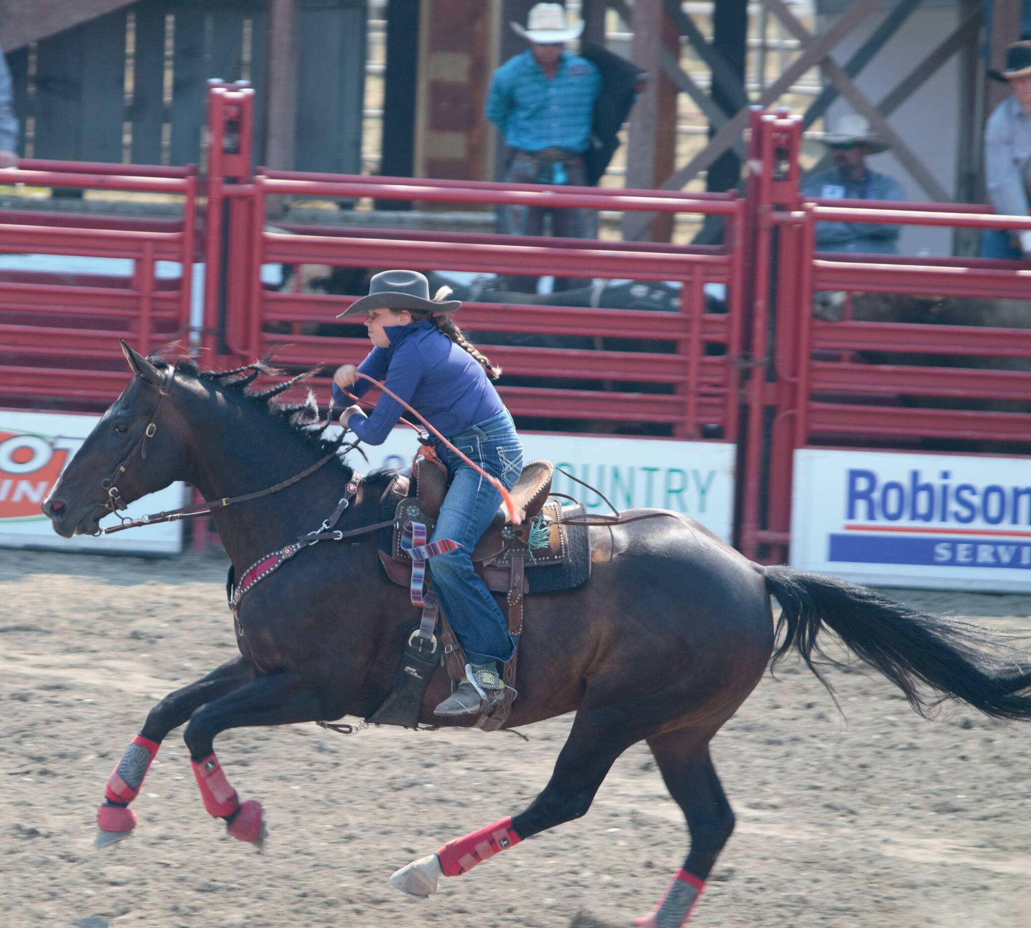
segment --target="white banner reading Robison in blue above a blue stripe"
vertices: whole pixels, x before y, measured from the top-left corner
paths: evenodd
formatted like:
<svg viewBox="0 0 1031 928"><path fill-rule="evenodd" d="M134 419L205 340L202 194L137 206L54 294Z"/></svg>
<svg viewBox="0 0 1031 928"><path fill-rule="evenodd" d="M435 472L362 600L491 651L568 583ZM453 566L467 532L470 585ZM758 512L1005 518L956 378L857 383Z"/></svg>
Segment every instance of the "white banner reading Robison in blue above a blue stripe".
<svg viewBox="0 0 1031 928"><path fill-rule="evenodd" d="M1031 590L1026 458L795 452L791 563L860 583Z"/></svg>

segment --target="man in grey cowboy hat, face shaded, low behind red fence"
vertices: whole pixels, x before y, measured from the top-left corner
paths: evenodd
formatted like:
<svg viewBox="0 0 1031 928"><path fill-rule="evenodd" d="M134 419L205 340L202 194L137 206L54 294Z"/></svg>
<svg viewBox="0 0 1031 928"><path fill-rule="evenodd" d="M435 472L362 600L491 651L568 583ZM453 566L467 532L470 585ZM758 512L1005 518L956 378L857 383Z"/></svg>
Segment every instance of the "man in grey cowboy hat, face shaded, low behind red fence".
<svg viewBox="0 0 1031 928"><path fill-rule="evenodd" d="M841 116L833 132L823 137L834 167L810 174L802 184L806 197L820 200L904 200L902 185L887 174L866 166L870 154L885 151L889 144L870 131L863 116ZM817 248L821 251L855 251L895 254L901 229L880 222L818 222Z"/></svg>

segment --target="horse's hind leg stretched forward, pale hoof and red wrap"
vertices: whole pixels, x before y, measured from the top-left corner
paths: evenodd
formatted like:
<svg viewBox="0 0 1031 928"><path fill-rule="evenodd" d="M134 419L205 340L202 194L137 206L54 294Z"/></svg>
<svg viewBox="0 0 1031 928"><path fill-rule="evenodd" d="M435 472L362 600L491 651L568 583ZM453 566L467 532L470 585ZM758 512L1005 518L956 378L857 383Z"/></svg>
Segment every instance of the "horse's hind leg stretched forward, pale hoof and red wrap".
<svg viewBox="0 0 1031 928"><path fill-rule="evenodd" d="M552 779L524 812L409 863L391 877L391 885L410 895L428 896L436 892L441 875L458 877L499 851L585 815L612 763L642 737L643 732L628 733L631 730L623 714L581 708Z"/></svg>

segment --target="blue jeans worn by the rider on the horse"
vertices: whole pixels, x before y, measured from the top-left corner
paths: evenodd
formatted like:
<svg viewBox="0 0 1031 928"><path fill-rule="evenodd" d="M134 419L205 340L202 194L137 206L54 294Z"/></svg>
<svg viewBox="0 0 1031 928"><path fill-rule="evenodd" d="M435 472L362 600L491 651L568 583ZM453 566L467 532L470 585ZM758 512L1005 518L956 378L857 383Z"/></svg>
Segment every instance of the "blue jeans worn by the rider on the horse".
<svg viewBox="0 0 1031 928"><path fill-rule="evenodd" d="M519 480L523 445L507 410L452 436L451 442L505 489ZM431 541L450 538L462 547L427 561L433 588L470 663L510 660L516 644L508 620L473 571L471 557L501 505L501 493L456 454L448 451L444 462L451 486Z"/></svg>

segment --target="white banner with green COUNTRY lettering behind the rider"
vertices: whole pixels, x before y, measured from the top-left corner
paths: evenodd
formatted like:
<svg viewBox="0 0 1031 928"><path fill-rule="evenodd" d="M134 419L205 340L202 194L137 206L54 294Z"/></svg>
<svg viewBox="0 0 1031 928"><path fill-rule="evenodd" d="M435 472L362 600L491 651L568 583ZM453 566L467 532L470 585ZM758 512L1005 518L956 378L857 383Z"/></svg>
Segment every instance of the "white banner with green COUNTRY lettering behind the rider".
<svg viewBox="0 0 1031 928"><path fill-rule="evenodd" d="M697 519L726 542L733 534L735 446L651 438L601 438L521 432L524 460L545 458L590 483L620 509L672 509ZM381 445L362 446L368 469L404 468L419 448L410 428L395 428ZM358 455L352 454L355 461ZM356 465L357 467L357 465ZM359 470L363 470L359 468ZM556 473L552 488L608 512L591 490Z"/></svg>

